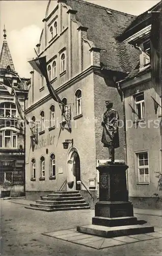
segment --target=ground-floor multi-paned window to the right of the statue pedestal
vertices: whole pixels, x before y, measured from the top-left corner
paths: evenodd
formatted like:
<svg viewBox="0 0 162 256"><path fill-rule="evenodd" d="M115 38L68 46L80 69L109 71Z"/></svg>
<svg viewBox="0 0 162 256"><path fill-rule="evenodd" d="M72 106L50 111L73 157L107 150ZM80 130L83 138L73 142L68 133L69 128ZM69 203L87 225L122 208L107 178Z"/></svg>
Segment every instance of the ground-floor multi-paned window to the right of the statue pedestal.
<svg viewBox="0 0 162 256"><path fill-rule="evenodd" d="M143 160L145 162L145 160L148 161L147 165L140 165L139 164L139 154L147 154L147 159L143 157ZM140 151L140 152L136 152L136 156L137 156L137 168L138 168L138 184L150 184L150 170L149 170L149 153L148 151ZM140 169L144 169L144 174L140 174ZM145 169L148 169L148 174L145 174ZM144 176L144 181L140 181L140 175ZM148 177L148 181L146 181L146 176Z"/></svg>

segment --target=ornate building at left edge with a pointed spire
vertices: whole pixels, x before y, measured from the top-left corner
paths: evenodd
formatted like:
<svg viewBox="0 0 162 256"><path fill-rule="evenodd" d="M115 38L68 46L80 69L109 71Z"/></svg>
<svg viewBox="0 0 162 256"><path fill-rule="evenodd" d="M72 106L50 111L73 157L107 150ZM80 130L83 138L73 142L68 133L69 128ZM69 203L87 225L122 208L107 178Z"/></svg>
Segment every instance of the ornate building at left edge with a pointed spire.
<svg viewBox="0 0 162 256"><path fill-rule="evenodd" d="M24 110L28 96L29 79L20 78L15 71L12 56L6 40L0 55L0 173L1 197L24 196L24 124L20 122L14 96L6 89L14 89Z"/></svg>

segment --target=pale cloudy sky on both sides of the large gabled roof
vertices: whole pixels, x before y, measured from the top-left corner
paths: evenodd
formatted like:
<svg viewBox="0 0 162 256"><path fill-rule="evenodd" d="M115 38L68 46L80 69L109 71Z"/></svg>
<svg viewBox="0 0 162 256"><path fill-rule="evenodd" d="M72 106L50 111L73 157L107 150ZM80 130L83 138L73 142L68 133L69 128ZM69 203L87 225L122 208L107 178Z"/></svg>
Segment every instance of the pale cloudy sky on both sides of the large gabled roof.
<svg viewBox="0 0 162 256"><path fill-rule="evenodd" d="M87 0L87 2L139 15L159 3L159 0ZM43 29L42 19L45 17L47 4L48 0L0 1L0 46L2 49L5 25L15 70L21 77L30 78L32 68L28 61L36 57L34 48L39 42Z"/></svg>

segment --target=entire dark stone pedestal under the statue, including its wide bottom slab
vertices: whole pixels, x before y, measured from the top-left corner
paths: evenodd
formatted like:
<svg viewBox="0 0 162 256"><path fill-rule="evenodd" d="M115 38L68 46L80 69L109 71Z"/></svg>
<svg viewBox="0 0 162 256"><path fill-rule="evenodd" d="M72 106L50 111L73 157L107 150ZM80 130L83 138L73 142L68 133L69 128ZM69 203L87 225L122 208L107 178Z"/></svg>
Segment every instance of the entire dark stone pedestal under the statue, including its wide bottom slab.
<svg viewBox="0 0 162 256"><path fill-rule="evenodd" d="M78 226L77 231L102 237L154 231L151 226L139 225L141 223L133 216L133 205L128 201L127 168L127 165L121 163L107 163L97 167L99 201L95 204L95 217L92 218L92 225Z"/></svg>

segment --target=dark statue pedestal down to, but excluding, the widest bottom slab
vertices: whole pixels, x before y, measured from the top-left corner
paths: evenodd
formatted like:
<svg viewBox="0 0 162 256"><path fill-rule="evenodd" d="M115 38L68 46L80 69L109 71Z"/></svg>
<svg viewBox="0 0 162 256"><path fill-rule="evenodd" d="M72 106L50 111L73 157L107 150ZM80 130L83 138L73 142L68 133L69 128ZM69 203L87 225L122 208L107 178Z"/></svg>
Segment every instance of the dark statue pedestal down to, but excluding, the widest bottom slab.
<svg viewBox="0 0 162 256"><path fill-rule="evenodd" d="M133 205L128 201L127 168L127 165L117 163L97 167L99 202L95 204L92 224L103 226L137 224L137 218L133 217Z"/></svg>

